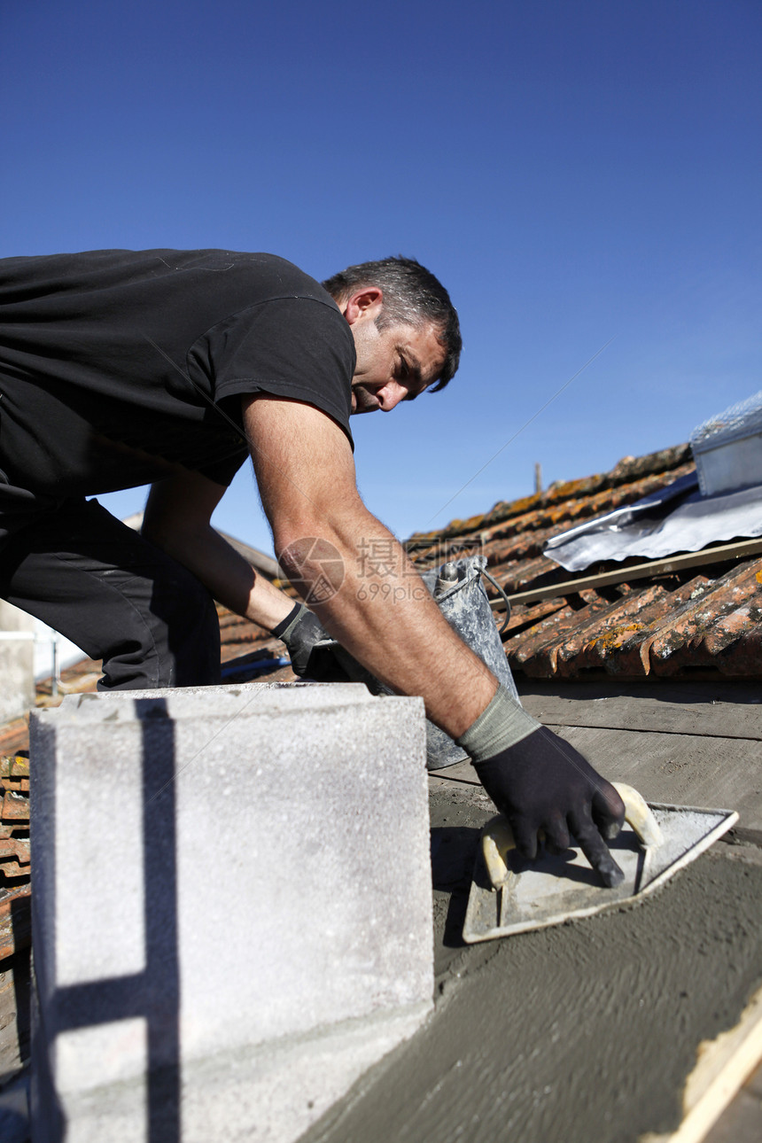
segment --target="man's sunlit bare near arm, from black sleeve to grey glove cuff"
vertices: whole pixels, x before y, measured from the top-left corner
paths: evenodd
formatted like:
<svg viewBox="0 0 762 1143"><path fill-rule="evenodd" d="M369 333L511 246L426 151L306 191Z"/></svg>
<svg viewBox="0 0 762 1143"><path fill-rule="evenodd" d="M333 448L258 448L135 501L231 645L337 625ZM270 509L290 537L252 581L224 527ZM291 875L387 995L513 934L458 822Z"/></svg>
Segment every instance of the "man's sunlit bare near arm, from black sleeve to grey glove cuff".
<svg viewBox="0 0 762 1143"><path fill-rule="evenodd" d="M459 736L490 702L497 681L448 626L402 547L363 505L346 437L299 401L258 395L244 399L243 408L282 566L305 590L324 572L313 537L339 554L340 586L324 602L310 598L311 609L377 678L402 694L422 695L428 717ZM367 558L374 551L384 552L387 574Z"/></svg>

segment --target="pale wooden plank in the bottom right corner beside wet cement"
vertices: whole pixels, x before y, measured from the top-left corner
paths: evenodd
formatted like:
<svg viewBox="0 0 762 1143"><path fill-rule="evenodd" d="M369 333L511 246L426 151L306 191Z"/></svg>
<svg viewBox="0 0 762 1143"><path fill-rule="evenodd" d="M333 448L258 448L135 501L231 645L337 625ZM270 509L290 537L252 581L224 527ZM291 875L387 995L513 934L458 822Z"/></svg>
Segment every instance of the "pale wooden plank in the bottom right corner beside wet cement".
<svg viewBox="0 0 762 1143"><path fill-rule="evenodd" d="M683 1119L676 1132L649 1133L640 1143L701 1143L762 1061L762 989L738 1024L698 1048L696 1068L683 1092Z"/></svg>

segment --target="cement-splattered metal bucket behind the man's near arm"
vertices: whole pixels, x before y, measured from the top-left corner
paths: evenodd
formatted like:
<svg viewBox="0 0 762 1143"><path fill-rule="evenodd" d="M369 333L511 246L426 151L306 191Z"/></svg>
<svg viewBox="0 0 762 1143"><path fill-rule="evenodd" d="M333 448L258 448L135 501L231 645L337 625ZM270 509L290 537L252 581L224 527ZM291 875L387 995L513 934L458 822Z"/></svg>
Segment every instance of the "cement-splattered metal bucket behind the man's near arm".
<svg viewBox="0 0 762 1143"><path fill-rule="evenodd" d="M482 575L491 580L487 572L487 557L470 555L424 572L422 578L452 630L520 703L500 634L495 625L489 598L484 591ZM491 582L495 583L494 580ZM498 591L502 590L498 584L496 586ZM375 695L394 693L366 671L340 644L331 642L328 646L355 682L364 682ZM444 730L426 720L426 766L430 770L440 770L444 766L466 761L467 758L466 752L457 746Z"/></svg>

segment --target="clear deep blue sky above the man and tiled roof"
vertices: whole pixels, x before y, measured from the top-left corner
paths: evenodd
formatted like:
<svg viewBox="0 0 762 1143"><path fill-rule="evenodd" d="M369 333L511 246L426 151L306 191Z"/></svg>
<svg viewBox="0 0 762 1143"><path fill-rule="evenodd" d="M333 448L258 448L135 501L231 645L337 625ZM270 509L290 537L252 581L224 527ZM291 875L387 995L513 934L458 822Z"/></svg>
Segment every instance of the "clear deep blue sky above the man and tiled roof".
<svg viewBox="0 0 762 1143"><path fill-rule="evenodd" d="M762 387L761 54L759 0L2 0L0 256L418 257L460 371L353 422L403 537ZM215 522L270 550L248 469Z"/></svg>

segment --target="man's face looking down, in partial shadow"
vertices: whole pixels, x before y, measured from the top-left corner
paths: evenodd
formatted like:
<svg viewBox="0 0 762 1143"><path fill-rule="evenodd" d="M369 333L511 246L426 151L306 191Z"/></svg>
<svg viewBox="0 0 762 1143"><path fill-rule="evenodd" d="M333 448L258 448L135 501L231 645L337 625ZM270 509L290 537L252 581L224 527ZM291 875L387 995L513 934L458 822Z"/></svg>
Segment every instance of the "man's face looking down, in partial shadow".
<svg viewBox="0 0 762 1143"><path fill-rule="evenodd" d="M368 317L353 323L358 363L352 378L352 413L391 411L412 401L439 377L444 349L435 327L390 326L379 330Z"/></svg>

